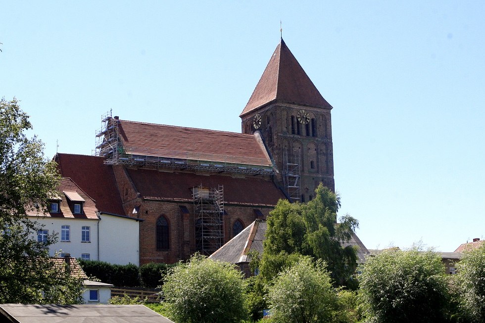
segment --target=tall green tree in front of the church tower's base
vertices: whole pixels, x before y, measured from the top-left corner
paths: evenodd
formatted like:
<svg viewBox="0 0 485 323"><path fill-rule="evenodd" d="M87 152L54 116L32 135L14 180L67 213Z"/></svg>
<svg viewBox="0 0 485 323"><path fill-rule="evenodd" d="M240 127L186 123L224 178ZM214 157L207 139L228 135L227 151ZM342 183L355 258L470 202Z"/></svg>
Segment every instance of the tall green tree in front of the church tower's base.
<svg viewBox="0 0 485 323"><path fill-rule="evenodd" d="M340 198L320 184L315 198L307 203L280 200L268 217L261 273L270 281L282 269L288 268L298 255L308 255L327 263L336 285L351 285L357 267L353 247L342 247L358 222L349 215L336 224ZM291 256L295 255L295 256Z"/></svg>

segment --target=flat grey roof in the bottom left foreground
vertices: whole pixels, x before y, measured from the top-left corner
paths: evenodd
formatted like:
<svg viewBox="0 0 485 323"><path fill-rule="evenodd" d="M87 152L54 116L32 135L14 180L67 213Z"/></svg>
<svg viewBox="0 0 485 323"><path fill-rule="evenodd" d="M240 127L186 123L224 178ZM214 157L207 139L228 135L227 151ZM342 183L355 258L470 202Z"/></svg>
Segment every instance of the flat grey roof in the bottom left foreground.
<svg viewBox="0 0 485 323"><path fill-rule="evenodd" d="M1 304L3 318L13 323L173 323L143 305Z"/></svg>

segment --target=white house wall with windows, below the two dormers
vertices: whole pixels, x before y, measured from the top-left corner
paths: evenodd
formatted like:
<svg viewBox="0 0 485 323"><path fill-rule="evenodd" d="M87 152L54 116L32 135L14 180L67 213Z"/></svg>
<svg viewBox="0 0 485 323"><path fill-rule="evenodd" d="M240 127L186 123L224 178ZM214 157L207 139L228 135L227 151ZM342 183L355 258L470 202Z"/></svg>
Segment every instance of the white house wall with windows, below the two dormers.
<svg viewBox="0 0 485 323"><path fill-rule="evenodd" d="M81 258L81 254L89 253L91 260L99 259L98 255L98 223L96 219L72 219L53 217L29 217L30 220L45 225L44 230L49 234L57 232L57 242L49 246L49 255L53 256L55 251L70 253L73 258ZM61 241L61 226L70 226L69 241ZM81 227L90 227L90 242L81 241ZM37 233L34 234L37 239Z"/></svg>

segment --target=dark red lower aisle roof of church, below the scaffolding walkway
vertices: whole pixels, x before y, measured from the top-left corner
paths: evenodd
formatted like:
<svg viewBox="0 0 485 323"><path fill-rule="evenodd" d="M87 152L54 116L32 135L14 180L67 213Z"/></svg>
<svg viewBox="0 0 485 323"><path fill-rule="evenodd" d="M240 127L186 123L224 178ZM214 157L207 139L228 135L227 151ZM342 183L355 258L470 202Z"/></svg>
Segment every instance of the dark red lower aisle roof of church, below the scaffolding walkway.
<svg viewBox="0 0 485 323"><path fill-rule="evenodd" d="M224 202L274 206L283 192L270 180L256 177L233 178L224 175L198 175L162 172L150 169L127 169L141 197L155 200L193 201L192 188L224 186Z"/></svg>

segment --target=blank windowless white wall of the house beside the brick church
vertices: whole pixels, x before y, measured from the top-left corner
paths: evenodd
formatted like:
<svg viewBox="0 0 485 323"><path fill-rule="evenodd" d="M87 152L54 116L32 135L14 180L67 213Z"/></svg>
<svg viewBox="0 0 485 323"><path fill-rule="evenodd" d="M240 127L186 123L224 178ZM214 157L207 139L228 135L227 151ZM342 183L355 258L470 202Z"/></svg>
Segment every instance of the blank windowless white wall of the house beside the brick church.
<svg viewBox="0 0 485 323"><path fill-rule="evenodd" d="M140 265L140 222L101 213L99 259L111 264Z"/></svg>

